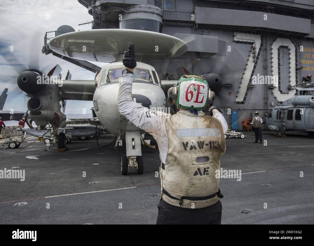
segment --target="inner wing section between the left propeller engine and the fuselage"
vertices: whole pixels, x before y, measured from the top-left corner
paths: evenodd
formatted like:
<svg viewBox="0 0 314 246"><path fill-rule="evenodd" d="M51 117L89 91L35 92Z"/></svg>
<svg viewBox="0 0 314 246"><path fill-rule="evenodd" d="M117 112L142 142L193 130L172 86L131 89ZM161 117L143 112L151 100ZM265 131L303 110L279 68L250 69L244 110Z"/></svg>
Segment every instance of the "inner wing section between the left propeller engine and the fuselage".
<svg viewBox="0 0 314 246"><path fill-rule="evenodd" d="M93 101L95 80L63 80L61 85L62 99Z"/></svg>

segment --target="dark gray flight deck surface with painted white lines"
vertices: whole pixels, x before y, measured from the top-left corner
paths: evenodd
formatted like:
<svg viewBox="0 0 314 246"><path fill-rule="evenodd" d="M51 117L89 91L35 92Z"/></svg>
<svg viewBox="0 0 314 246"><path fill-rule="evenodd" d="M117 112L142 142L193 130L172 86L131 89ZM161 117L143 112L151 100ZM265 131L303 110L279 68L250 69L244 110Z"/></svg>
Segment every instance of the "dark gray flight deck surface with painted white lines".
<svg viewBox="0 0 314 246"><path fill-rule="evenodd" d="M313 224L314 138L296 132L276 138L273 132L263 131L264 146L253 143L253 132L245 134L245 139L226 139L221 167L241 170L241 181L220 180L221 224ZM99 139L100 145L112 140L113 134L102 134ZM158 149L143 147L142 175L130 169L122 176L117 149L113 145L99 149L95 138L73 140L65 152L56 147L24 152L45 147L35 142L13 153L27 144L0 149L0 170L25 170L24 181L0 179L0 224L156 223ZM27 204L14 206L21 202Z"/></svg>

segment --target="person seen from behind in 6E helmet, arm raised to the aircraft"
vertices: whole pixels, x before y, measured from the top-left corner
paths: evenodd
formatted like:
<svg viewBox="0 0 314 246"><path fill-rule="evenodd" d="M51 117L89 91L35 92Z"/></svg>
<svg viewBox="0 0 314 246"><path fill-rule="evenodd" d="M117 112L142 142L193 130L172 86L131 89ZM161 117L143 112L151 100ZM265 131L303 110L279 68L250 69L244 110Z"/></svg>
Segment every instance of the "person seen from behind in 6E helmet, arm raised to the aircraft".
<svg viewBox="0 0 314 246"><path fill-rule="evenodd" d="M157 224L220 224L220 157L225 153L227 123L216 107L205 115L209 88L203 77L186 74L168 91L179 111L170 115L132 100L133 44L122 58L125 70L117 107L133 124L153 135L160 151L161 200ZM147 117L150 115L151 117Z"/></svg>

